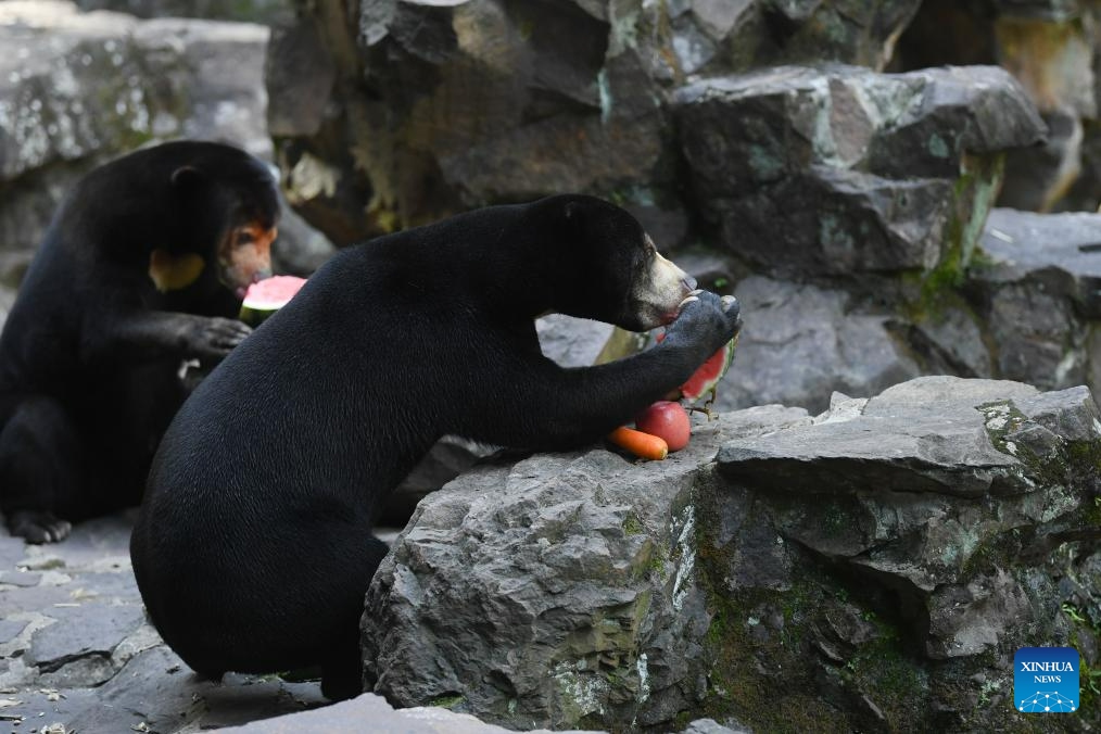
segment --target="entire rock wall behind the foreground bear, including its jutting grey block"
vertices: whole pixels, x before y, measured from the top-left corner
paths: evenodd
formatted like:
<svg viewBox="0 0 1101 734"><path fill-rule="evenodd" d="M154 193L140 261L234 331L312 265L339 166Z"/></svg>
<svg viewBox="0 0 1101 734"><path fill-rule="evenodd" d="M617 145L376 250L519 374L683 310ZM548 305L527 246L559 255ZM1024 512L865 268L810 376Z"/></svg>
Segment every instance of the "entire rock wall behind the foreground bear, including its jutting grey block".
<svg viewBox="0 0 1101 734"><path fill-rule="evenodd" d="M996 202L1101 198L1075 173L1097 107L1091 3L299 8L273 41L271 131L290 199L337 242L584 190L743 300L726 409L819 412L835 390L937 373L1101 388L1094 317L1034 280L995 304L984 280ZM1014 310L1033 331L1006 328Z"/></svg>

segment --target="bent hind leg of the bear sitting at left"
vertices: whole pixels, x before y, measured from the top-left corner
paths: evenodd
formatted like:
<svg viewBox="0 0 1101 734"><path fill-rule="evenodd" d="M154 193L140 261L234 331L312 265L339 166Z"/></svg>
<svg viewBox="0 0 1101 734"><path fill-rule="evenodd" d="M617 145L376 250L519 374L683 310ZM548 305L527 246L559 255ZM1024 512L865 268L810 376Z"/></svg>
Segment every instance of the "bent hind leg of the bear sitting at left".
<svg viewBox="0 0 1101 734"><path fill-rule="evenodd" d="M0 431L0 511L13 536L64 540L63 517L84 501L84 449L68 413L53 397L24 398Z"/></svg>

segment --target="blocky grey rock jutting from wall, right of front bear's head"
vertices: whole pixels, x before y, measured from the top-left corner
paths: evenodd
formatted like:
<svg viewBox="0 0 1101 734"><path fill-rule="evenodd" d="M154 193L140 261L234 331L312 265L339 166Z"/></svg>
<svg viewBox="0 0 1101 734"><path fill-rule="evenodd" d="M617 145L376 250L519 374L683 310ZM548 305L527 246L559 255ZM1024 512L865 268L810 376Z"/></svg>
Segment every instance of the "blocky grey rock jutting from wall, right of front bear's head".
<svg viewBox="0 0 1101 734"><path fill-rule="evenodd" d="M688 85L674 111L696 200L722 244L787 276L928 271L957 245L966 258L973 242L950 231L981 221L998 171L964 156L1044 132L995 67L778 67ZM964 173L982 183L961 191Z"/></svg>

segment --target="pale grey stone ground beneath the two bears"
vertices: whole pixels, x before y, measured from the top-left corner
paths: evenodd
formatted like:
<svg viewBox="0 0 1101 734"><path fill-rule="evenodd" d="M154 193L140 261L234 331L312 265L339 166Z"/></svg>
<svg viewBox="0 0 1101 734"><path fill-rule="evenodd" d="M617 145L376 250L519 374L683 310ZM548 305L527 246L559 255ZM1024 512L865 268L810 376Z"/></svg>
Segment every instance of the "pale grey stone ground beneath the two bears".
<svg viewBox="0 0 1101 734"><path fill-rule="evenodd" d="M132 513L92 521L53 546L0 536L0 732L506 731L440 708L395 711L370 693L326 705L316 680L200 679L145 618L128 551L132 522ZM730 732L707 720L685 730Z"/></svg>

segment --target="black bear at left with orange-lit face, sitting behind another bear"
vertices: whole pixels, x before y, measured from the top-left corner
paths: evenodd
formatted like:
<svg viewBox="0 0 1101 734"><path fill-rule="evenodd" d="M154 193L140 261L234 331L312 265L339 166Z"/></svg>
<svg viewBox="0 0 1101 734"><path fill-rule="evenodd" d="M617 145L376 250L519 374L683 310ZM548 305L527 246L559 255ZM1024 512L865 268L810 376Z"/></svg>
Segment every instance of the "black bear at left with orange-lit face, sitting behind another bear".
<svg viewBox="0 0 1101 734"><path fill-rule="evenodd" d="M236 147L172 142L85 176L46 231L0 336L0 512L48 543L138 504L186 397L185 360L214 364L249 327L280 205Z"/></svg>

